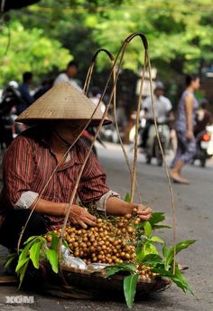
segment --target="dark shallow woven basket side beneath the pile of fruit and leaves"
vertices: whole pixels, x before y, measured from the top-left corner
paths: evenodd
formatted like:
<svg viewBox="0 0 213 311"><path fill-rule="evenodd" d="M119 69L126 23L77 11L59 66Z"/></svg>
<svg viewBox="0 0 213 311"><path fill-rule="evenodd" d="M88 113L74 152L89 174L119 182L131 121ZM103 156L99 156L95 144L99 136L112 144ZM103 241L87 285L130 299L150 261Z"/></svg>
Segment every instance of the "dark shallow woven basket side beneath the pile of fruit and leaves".
<svg viewBox="0 0 213 311"><path fill-rule="evenodd" d="M50 267L46 273L42 291L60 297L123 297L124 275L114 275L109 278L103 271L75 269L61 265L60 276L54 274ZM171 286L170 278L155 277L144 280L139 277L136 287L136 297L162 291Z"/></svg>

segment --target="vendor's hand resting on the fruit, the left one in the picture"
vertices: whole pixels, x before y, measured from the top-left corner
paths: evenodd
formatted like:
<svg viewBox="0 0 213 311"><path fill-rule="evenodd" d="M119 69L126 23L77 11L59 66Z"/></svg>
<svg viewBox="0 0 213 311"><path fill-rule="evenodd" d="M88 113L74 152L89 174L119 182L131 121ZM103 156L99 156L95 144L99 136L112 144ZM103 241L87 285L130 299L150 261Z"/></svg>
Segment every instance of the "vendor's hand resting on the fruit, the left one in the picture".
<svg viewBox="0 0 213 311"><path fill-rule="evenodd" d="M73 224L79 224L82 228L87 229L89 226L96 226L96 217L91 215L87 209L79 205L72 205L69 212L69 221Z"/></svg>

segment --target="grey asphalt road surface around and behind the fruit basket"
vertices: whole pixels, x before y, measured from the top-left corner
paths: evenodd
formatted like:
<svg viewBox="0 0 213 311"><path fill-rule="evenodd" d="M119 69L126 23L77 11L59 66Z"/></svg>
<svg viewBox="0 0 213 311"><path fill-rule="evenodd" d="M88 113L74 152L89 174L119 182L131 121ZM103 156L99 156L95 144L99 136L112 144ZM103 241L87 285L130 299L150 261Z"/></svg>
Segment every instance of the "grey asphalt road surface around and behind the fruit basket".
<svg viewBox="0 0 213 311"><path fill-rule="evenodd" d="M118 146L100 148L98 156L107 174L107 183L111 189L125 196L130 189L130 177L125 161ZM173 184L177 210L177 240L196 239L190 249L183 251L178 259L190 267L185 272L195 297L185 295L175 286L158 294L146 297L135 303L135 311L212 311L213 310L213 165L207 168L187 166L185 175L190 179L190 185ZM171 224L171 199L163 167L144 164L144 156L138 158L138 184L143 195L144 203L153 206L154 211L166 214L166 223ZM159 232L170 245L171 230ZM5 250L0 248L0 260L3 262ZM5 296L33 295L34 304L9 305L5 304ZM106 293L107 297L107 293ZM89 301L65 300L54 297L17 291L15 287L0 287L0 310L64 310L72 311L120 311L127 310L122 301Z"/></svg>

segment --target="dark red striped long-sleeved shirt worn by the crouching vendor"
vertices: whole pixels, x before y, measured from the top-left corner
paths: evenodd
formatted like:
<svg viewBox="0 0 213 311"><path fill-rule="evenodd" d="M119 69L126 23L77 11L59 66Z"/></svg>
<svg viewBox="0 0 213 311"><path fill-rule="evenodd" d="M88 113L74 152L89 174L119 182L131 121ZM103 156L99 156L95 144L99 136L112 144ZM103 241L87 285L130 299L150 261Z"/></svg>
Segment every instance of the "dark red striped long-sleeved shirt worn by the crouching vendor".
<svg viewBox="0 0 213 311"><path fill-rule="evenodd" d="M4 221L8 209L28 208L42 193L58 164L56 155L48 144L48 135L43 128L42 130L37 127L29 128L16 137L6 150L3 159L4 187L0 194L0 221L1 219ZM67 160L51 178L42 199L69 203L87 153L88 147L79 139L71 148ZM102 171L96 155L91 153L80 179L79 199L87 206L88 203L101 201L107 193L109 189L106 186L106 174ZM74 203L76 200L77 197ZM58 227L64 219L50 215L44 217L49 230Z"/></svg>

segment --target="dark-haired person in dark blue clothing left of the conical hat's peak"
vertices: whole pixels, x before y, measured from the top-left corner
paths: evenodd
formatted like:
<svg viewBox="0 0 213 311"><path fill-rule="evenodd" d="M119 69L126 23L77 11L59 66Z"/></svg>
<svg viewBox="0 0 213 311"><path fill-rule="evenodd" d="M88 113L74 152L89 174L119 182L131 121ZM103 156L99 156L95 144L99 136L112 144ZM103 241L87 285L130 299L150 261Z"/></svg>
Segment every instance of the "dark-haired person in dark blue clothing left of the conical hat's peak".
<svg viewBox="0 0 213 311"><path fill-rule="evenodd" d="M17 105L17 113L20 114L28 108L32 102L33 97L30 94L30 85L32 84L33 74L30 71L26 71L23 73L23 83L19 86L18 90L21 93L22 102Z"/></svg>

